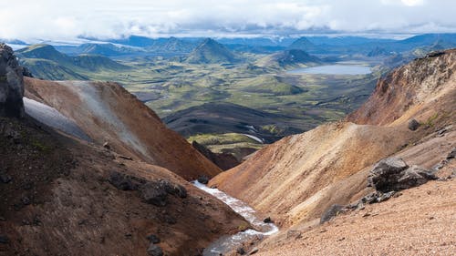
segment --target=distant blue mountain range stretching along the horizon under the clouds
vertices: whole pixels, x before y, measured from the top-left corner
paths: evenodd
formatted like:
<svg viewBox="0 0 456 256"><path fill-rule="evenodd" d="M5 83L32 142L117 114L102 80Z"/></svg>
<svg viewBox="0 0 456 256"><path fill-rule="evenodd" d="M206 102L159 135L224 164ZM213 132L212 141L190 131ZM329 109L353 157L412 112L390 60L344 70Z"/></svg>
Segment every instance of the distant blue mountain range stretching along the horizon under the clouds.
<svg viewBox="0 0 456 256"><path fill-rule="evenodd" d="M102 56L186 56L206 39L201 37L161 37L129 36L120 39L81 38L85 42L79 46L61 46L57 50L67 55L96 54ZM26 46L20 40L0 40L15 46ZM302 37L253 37L212 39L224 48L235 52L271 54L285 49L304 50L310 54L362 54L381 56L412 51L420 47L444 49L456 46L456 34L424 34L402 40L371 38L364 36L302 36ZM54 45L52 43L49 43ZM210 60L209 60L210 61Z"/></svg>

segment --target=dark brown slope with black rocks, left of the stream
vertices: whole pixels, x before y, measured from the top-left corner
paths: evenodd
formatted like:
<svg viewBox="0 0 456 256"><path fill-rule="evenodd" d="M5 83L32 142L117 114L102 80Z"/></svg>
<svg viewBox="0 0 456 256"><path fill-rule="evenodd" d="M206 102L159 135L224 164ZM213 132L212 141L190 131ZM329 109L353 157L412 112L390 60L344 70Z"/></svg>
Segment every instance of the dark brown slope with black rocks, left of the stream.
<svg viewBox="0 0 456 256"><path fill-rule="evenodd" d="M247 225L168 169L41 127L0 119L0 255L147 255L150 234L161 239L165 255L197 255ZM113 171L143 182L168 180L188 196L169 195L166 206L154 206L138 190L112 186Z"/></svg>

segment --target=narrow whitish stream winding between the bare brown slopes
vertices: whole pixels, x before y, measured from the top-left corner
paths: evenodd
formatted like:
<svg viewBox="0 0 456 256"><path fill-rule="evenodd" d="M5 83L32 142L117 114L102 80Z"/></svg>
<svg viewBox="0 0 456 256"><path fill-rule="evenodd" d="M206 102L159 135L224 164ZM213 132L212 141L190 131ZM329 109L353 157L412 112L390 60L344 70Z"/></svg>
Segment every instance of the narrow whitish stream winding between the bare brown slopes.
<svg viewBox="0 0 456 256"><path fill-rule="evenodd" d="M203 256L218 256L220 254L224 254L228 251L232 251L233 249L235 250L240 247L243 241L247 241L256 236L272 235L279 230L274 223L264 223L263 220L258 219L258 217L255 215L255 210L252 209L244 201L235 199L219 189L211 189L198 182L197 180L193 181L192 183L196 188L202 189L218 200L223 201L231 209L233 209L239 215L243 216L245 220L249 221L252 227L254 227L254 230L245 230L238 232L232 236L223 236L217 241L212 242L211 245L202 251Z"/></svg>

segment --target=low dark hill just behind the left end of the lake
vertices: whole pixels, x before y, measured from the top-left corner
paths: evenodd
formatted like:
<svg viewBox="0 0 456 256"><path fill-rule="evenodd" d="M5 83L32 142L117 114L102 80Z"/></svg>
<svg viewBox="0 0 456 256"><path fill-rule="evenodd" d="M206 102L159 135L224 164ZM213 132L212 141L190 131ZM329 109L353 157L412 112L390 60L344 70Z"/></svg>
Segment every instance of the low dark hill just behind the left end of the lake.
<svg viewBox="0 0 456 256"><path fill-rule="evenodd" d="M258 67L296 67L299 65L315 65L321 60L316 56L311 56L303 50L285 50L258 60Z"/></svg>

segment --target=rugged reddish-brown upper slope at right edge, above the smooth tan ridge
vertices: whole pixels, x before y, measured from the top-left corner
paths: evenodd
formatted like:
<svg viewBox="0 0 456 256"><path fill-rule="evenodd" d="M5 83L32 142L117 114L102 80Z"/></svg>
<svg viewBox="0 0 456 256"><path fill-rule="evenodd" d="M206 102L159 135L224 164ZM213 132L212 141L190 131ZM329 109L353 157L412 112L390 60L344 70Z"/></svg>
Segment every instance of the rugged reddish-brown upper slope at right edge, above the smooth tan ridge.
<svg viewBox="0 0 456 256"><path fill-rule="evenodd" d="M456 107L456 49L412 61L378 81L361 108L347 116L357 124L395 125L409 118L425 123L454 117Z"/></svg>

